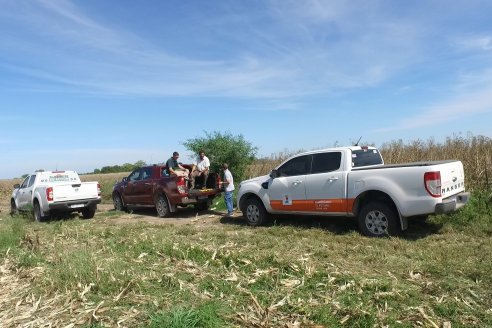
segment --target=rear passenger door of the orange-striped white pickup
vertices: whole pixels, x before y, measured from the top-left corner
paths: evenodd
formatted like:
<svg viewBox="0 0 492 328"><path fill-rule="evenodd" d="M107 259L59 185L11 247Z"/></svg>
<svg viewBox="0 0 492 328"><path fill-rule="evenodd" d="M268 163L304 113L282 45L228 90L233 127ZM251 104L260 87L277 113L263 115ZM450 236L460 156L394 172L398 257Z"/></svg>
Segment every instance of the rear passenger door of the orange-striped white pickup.
<svg viewBox="0 0 492 328"><path fill-rule="evenodd" d="M346 214L347 172L341 167L342 152L325 152L312 156L311 172L306 176L306 201L311 211Z"/></svg>

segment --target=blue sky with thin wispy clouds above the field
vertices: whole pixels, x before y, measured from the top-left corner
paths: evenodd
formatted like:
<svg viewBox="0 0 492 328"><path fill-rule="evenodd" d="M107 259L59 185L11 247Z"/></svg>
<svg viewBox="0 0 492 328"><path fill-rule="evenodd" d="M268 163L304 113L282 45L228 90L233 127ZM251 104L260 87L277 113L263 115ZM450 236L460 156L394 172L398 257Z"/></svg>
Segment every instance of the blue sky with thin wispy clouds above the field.
<svg viewBox="0 0 492 328"><path fill-rule="evenodd" d="M491 1L0 0L0 178L492 137ZM189 155L189 154L188 154Z"/></svg>

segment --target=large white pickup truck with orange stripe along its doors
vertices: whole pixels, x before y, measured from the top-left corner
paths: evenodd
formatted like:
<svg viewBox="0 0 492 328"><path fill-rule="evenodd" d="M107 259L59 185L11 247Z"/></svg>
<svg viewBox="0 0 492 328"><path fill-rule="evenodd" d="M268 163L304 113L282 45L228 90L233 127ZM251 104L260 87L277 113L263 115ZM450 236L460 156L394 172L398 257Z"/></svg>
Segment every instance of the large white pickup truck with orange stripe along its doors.
<svg viewBox="0 0 492 328"><path fill-rule="evenodd" d="M456 211L469 197L460 161L384 165L376 148L354 146L301 153L241 182L237 205L252 226L270 214L347 216L380 237L405 230L407 218Z"/></svg>

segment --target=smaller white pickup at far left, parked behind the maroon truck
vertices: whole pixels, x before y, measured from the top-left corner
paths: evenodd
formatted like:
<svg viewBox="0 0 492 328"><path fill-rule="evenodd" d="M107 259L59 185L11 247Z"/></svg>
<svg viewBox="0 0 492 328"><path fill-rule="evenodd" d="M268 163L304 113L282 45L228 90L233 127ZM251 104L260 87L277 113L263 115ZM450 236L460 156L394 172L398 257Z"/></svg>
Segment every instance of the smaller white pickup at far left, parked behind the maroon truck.
<svg viewBox="0 0 492 328"><path fill-rule="evenodd" d="M101 202L97 182L81 182L75 171L36 171L14 185L10 213L33 211L36 221L56 212L79 212L84 219L94 217Z"/></svg>

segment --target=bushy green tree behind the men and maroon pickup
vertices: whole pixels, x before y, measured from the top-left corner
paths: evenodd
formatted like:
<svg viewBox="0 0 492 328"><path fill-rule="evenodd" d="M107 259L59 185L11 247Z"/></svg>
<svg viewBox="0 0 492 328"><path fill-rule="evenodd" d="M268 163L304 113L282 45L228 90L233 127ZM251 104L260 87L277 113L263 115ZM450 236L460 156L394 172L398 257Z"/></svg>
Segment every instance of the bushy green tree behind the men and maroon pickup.
<svg viewBox="0 0 492 328"><path fill-rule="evenodd" d="M183 145L195 154L203 149L210 159L210 169L219 172L222 163L229 164L234 180L242 181L244 172L256 157L258 147L254 147L240 135L230 132L206 132L205 137L188 139Z"/></svg>

